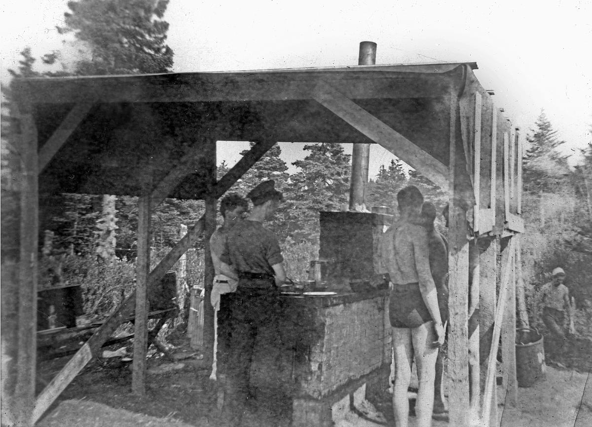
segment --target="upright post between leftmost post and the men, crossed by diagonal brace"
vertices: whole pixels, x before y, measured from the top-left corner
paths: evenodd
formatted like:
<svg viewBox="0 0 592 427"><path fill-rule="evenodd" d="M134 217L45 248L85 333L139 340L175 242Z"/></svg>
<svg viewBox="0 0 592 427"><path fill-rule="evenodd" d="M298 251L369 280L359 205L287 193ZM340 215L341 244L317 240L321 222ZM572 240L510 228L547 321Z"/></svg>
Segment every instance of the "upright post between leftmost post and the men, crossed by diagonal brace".
<svg viewBox="0 0 592 427"><path fill-rule="evenodd" d="M136 321L134 322L134 362L131 391L142 396L145 390L146 351L148 349L148 277L150 271L150 205L145 192L138 201L138 257L136 263Z"/></svg>

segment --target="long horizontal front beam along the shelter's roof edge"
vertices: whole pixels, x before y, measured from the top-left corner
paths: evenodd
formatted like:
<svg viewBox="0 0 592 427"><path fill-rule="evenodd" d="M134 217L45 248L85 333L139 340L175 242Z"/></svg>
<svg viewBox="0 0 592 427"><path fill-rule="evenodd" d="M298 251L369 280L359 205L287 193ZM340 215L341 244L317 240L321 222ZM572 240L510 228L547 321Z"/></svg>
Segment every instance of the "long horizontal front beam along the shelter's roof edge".
<svg viewBox="0 0 592 427"><path fill-rule="evenodd" d="M118 76L95 79L52 79L23 81L34 103L81 102L89 96L98 102L220 102L220 101L285 101L311 99L318 82L337 85L349 98L430 98L448 90L448 79L438 73L331 73L324 76L282 76L263 78L252 75L229 76ZM47 79L49 80L49 79Z"/></svg>

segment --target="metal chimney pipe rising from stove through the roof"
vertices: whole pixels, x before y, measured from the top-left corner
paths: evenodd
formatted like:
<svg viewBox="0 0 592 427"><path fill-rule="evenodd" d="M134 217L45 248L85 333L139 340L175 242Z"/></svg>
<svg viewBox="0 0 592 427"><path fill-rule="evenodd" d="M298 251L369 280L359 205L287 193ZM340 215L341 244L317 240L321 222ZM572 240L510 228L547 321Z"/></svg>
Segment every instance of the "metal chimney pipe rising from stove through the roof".
<svg viewBox="0 0 592 427"><path fill-rule="evenodd" d="M358 65L376 64L376 46L374 41L362 41L358 56ZM349 210L366 210L366 185L368 184L368 165L370 145L354 144L352 150L352 179L349 188Z"/></svg>

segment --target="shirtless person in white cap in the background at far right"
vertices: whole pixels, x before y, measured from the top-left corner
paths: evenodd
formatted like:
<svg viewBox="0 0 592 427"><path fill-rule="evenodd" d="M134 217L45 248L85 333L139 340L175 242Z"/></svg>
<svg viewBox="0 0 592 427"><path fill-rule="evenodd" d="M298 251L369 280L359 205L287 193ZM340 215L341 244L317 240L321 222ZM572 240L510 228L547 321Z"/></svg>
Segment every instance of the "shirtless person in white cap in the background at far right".
<svg viewBox="0 0 592 427"><path fill-rule="evenodd" d="M543 285L541 302L543 306L543 322L556 338L565 338L565 312L568 313L569 332L574 333L570 291L563 284L565 271L557 267L552 272L553 280Z"/></svg>

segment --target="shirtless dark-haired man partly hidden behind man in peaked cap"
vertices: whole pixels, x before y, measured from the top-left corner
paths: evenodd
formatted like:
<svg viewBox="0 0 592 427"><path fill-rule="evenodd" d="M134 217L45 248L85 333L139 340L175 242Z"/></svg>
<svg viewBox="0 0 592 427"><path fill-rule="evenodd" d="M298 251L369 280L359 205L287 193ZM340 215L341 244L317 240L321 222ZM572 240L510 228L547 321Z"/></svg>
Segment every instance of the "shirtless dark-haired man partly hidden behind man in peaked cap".
<svg viewBox="0 0 592 427"><path fill-rule="evenodd" d="M218 311L220 310L220 295L236 291L238 284L236 271L233 269L233 275L227 276L220 271L220 255L224 251L224 244L230 229L243 220L243 213L249 208L249 201L246 198L240 197L235 193L226 195L220 201L220 214L224 219L224 223L220 228L215 230L210 237L210 255L214 264L214 286L210 296L210 301L214 307L214 361L212 363L212 373L210 378L216 379L217 371L217 348L218 348L218 334L217 334L217 320ZM221 353L225 353L221 351Z"/></svg>

